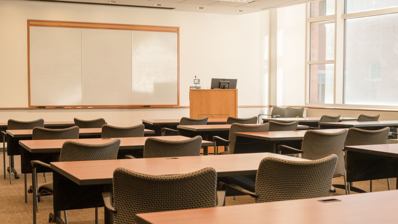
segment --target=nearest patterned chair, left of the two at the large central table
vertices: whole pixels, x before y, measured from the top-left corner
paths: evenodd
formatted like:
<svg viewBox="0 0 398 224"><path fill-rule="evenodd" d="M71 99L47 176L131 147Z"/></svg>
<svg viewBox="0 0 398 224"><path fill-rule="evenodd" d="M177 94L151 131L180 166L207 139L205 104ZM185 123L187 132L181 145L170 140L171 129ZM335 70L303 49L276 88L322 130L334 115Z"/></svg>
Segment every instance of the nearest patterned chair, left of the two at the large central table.
<svg viewBox="0 0 398 224"><path fill-rule="evenodd" d="M217 173L205 168L179 175L146 175L124 168L113 173L113 194L102 193L114 224L136 224L136 214L208 208L217 200ZM112 203L113 202L113 203Z"/></svg>

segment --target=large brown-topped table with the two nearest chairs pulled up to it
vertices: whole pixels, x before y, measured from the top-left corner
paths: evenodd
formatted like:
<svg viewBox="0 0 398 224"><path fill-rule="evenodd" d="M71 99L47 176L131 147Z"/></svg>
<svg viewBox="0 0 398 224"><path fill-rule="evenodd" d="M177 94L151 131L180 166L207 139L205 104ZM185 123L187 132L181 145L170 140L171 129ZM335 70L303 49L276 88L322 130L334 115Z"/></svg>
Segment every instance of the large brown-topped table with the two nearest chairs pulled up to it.
<svg viewBox="0 0 398 224"><path fill-rule="evenodd" d="M101 193L112 191L113 171L117 167L149 175L183 174L213 167L218 177L227 177L255 175L260 161L265 157L308 161L273 153L249 153L177 157L178 159L148 158L51 163L51 168L54 170L53 203L56 216L54 218L60 218L62 210L103 207ZM105 209L105 224L108 224L109 220L109 212Z"/></svg>

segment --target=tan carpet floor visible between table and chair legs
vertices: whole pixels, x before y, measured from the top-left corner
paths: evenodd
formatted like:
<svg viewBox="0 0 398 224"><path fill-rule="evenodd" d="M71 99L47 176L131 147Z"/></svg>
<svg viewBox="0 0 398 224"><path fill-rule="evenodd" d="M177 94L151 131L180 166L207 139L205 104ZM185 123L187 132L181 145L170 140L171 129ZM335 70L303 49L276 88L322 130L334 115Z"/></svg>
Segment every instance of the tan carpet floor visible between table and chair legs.
<svg viewBox="0 0 398 224"><path fill-rule="evenodd" d="M1 155L1 154L0 154ZM2 155L1 155L2 157ZM15 157L16 169L20 173L20 157ZM8 165L8 163L7 163ZM0 161L0 167L3 167L2 159ZM20 174L20 179L16 180L12 177L12 185L8 179L3 179L1 169L1 179L0 179L0 223L1 224L30 224L32 223L32 195L28 194L28 203L25 204L24 200L24 185L23 185L23 175ZM39 185L44 183L43 175L38 177ZM52 181L51 173L47 174L47 182ZM391 189L395 189L396 181L391 179ZM31 185L31 175L27 175L28 186ZM343 178L335 178L333 180L335 184L342 184ZM366 191L369 191L369 181L355 182L354 186L360 187ZM378 180L373 181L373 191L386 191L387 181ZM337 192L333 195L343 195L344 190L337 189ZM48 215L53 210L53 197L47 196L42 197L41 202L39 202L39 213L37 213L37 223L46 224L48 223ZM248 204L254 203L254 199L250 196L236 196L236 200L232 197L226 198L226 204ZM63 215L63 214L62 214ZM100 208L100 223L103 223L103 208ZM94 223L94 208L92 209L82 209L82 210L69 210L68 219L70 224L92 224Z"/></svg>

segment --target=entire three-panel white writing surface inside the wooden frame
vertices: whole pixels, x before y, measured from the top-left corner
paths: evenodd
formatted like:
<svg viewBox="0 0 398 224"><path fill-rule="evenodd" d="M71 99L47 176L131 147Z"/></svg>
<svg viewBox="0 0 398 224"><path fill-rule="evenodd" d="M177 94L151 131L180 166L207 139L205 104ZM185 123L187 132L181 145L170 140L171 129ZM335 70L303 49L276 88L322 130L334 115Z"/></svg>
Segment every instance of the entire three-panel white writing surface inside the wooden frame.
<svg viewBox="0 0 398 224"><path fill-rule="evenodd" d="M178 105L178 33L29 26L29 106Z"/></svg>

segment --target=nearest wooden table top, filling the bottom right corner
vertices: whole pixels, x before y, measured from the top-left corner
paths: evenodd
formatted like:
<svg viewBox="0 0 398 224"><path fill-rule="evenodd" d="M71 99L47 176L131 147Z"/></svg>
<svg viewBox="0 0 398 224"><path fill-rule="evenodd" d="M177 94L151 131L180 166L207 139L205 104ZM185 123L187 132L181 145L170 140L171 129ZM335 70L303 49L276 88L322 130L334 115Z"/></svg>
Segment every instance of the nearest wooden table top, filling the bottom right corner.
<svg viewBox="0 0 398 224"><path fill-rule="evenodd" d="M320 202L336 198L338 202ZM393 224L398 190L137 214L139 224Z"/></svg>

